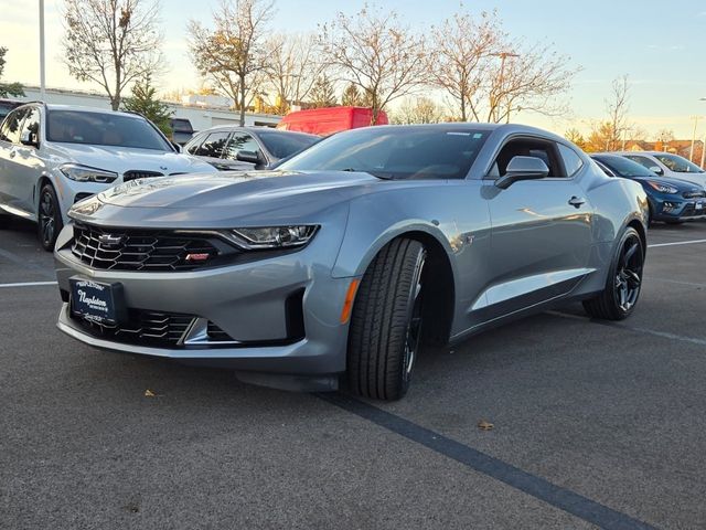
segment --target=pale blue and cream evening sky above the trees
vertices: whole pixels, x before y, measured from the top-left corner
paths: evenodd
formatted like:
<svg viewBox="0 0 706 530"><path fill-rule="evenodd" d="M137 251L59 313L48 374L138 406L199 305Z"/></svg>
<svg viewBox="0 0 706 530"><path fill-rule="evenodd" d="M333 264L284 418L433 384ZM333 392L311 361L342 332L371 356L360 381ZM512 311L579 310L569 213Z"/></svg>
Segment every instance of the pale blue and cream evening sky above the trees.
<svg viewBox="0 0 706 530"><path fill-rule="evenodd" d="M163 92L196 88L200 78L188 55L186 23L208 23L218 0L161 0L167 72ZM272 32L315 32L342 11L353 14L364 0L276 0ZM400 20L425 31L459 10L458 0L377 0ZM61 62L63 0L45 0L47 87L97 89L73 80ZM432 7L432 8L430 8ZM693 116L706 135L706 2L702 0L467 0L471 13L495 9L512 36L552 43L580 66L570 93L570 114L547 118L520 113L513 120L564 132L584 131L606 115L612 80L629 75L630 120L654 136L673 129L691 138ZM39 85L39 1L0 0L0 46L9 49L3 81Z"/></svg>

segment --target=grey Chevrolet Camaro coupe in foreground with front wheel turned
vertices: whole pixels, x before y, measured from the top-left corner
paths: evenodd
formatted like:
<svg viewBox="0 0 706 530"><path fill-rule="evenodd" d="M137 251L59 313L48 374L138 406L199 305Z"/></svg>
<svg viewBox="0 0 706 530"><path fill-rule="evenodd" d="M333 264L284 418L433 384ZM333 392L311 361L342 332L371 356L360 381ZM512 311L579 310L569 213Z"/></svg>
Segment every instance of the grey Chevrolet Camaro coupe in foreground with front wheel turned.
<svg viewBox="0 0 706 530"><path fill-rule="evenodd" d="M58 327L252 383L395 400L424 344L567 300L629 316L646 215L640 184L539 129L355 129L272 171L136 180L75 204Z"/></svg>

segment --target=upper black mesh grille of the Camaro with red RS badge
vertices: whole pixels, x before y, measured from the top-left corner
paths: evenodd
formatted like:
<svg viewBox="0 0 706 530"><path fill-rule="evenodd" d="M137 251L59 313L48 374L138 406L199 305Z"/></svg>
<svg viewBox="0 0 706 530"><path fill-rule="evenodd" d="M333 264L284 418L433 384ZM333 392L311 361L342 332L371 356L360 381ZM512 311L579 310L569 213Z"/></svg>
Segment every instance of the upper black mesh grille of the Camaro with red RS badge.
<svg viewBox="0 0 706 530"><path fill-rule="evenodd" d="M222 252L215 245L222 246L207 235L76 224L72 253L89 267L105 271L193 271L217 261Z"/></svg>

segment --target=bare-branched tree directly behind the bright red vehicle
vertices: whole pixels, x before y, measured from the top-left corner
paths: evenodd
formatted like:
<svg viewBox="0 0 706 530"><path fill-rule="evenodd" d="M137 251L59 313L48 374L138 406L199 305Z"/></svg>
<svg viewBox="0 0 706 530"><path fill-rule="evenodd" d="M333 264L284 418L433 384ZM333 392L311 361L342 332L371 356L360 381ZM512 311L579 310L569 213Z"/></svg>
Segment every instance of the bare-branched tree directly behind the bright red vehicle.
<svg viewBox="0 0 706 530"><path fill-rule="evenodd" d="M394 11L336 18L321 26L323 55L341 80L360 87L373 110L372 124L392 100L420 88L428 80L425 39L399 25Z"/></svg>

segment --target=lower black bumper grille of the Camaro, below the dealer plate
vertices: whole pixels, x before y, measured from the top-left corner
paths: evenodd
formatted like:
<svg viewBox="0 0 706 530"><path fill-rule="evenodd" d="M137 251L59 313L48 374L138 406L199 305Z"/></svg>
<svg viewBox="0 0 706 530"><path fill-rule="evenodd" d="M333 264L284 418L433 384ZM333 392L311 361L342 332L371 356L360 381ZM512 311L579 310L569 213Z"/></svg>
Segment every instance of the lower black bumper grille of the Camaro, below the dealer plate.
<svg viewBox="0 0 706 530"><path fill-rule="evenodd" d="M128 321L118 326L104 326L92 320L73 317L90 335L133 344L176 346L194 316L176 312L157 312L128 309Z"/></svg>

